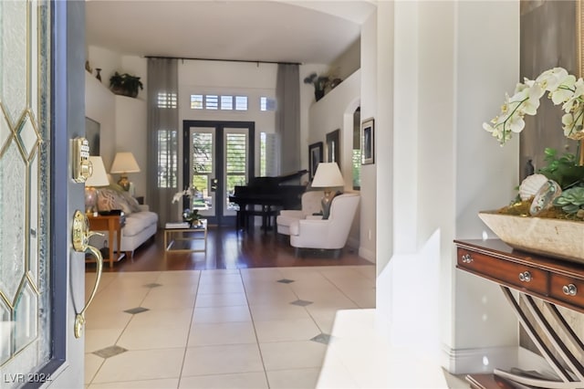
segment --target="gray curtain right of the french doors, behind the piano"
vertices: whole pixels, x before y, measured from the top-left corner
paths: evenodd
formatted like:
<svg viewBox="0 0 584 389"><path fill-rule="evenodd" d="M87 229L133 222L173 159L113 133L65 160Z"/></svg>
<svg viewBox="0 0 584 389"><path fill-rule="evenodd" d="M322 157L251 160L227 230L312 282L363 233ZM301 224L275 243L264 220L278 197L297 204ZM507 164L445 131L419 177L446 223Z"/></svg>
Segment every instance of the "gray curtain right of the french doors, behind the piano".
<svg viewBox="0 0 584 389"><path fill-rule="evenodd" d="M278 64L276 79L276 134L280 145L280 173L300 170L300 83L298 65Z"/></svg>

